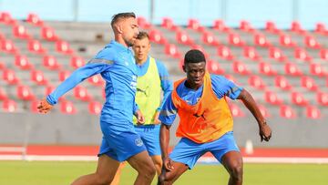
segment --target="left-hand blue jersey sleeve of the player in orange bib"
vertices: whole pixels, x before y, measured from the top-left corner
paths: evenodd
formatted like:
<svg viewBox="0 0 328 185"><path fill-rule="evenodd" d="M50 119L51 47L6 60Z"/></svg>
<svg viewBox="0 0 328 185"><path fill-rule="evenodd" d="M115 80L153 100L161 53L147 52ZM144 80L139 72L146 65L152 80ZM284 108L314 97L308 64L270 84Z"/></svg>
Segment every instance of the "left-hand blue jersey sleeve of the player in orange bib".
<svg viewBox="0 0 328 185"><path fill-rule="evenodd" d="M169 97L165 100L159 113L159 120L165 125L172 125L178 113L177 108L172 102L171 94L169 93Z"/></svg>

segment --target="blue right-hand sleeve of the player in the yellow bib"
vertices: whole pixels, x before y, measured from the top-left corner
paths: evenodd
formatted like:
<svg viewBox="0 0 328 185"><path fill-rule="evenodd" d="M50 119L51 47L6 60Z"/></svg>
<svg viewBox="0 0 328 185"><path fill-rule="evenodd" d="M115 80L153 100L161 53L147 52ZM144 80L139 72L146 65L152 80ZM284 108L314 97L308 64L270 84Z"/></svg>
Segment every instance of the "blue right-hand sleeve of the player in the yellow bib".
<svg viewBox="0 0 328 185"><path fill-rule="evenodd" d="M158 111L163 107L165 100L169 97L173 90L173 83L169 80L169 72L163 63L156 61L159 70L160 87L163 90L163 100L158 108Z"/></svg>

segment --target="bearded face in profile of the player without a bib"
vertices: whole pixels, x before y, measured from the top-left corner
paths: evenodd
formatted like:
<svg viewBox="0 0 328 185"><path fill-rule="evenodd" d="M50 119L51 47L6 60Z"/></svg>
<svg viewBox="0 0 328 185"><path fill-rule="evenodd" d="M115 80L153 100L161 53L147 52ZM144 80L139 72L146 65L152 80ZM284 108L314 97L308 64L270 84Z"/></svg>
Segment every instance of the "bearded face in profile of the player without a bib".
<svg viewBox="0 0 328 185"><path fill-rule="evenodd" d="M133 46L138 36L138 23L137 19L133 17L127 18L122 25L122 36L128 46Z"/></svg>

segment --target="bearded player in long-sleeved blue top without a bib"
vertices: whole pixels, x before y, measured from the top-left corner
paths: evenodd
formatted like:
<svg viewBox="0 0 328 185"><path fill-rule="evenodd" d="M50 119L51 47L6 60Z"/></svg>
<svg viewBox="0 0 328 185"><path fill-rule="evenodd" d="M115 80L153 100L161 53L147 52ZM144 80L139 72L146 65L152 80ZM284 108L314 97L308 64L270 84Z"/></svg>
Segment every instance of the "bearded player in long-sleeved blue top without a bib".
<svg viewBox="0 0 328 185"><path fill-rule="evenodd" d="M135 184L150 184L156 174L154 164L132 123L133 114L138 117L138 121L143 121L135 104L137 66L128 48L138 36L136 15L114 15L111 26L115 40L98 52L86 66L73 72L38 106L39 112L47 113L58 98L87 77L101 74L106 80L106 102L100 115L103 139L98 153L97 170L78 178L73 182L74 185L109 184L119 163L125 160L138 171Z"/></svg>

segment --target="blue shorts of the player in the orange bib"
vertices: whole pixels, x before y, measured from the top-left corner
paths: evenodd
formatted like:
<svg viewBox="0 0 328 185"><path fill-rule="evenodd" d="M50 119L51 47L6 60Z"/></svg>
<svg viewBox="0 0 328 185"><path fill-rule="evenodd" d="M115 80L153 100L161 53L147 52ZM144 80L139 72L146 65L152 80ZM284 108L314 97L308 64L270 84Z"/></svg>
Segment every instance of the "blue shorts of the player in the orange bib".
<svg viewBox="0 0 328 185"><path fill-rule="evenodd" d="M182 138L169 154L169 158L188 165L191 170L197 160L208 151L221 162L224 154L229 151L240 151L240 149L238 149L233 138L233 132L230 131L221 136L220 139L202 144Z"/></svg>

